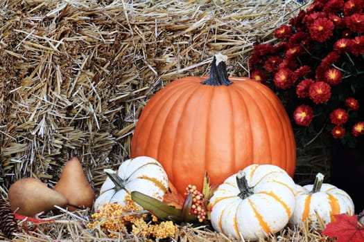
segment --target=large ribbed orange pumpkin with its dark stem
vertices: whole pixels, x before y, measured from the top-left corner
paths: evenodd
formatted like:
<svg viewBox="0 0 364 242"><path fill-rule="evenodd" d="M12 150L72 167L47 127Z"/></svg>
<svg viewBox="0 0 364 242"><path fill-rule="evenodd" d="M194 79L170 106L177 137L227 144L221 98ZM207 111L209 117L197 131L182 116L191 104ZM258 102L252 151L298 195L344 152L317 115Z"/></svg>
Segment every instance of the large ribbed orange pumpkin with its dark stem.
<svg viewBox="0 0 364 242"><path fill-rule="evenodd" d="M183 193L189 184L220 184L251 164L293 176L295 138L283 104L267 86L228 78L216 55L210 77L183 77L150 98L135 128L131 156L158 160Z"/></svg>

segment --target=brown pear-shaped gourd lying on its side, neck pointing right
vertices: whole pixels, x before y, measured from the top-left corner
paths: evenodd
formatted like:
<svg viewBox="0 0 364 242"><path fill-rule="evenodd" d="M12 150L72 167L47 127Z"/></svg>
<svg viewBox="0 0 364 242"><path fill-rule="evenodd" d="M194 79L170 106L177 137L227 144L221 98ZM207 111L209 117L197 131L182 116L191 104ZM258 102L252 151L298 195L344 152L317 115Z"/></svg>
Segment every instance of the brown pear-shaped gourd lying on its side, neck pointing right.
<svg viewBox="0 0 364 242"><path fill-rule="evenodd" d="M54 210L54 205L64 207L68 203L65 196L35 178L21 178L12 183L8 199L13 212L32 217L42 211Z"/></svg>

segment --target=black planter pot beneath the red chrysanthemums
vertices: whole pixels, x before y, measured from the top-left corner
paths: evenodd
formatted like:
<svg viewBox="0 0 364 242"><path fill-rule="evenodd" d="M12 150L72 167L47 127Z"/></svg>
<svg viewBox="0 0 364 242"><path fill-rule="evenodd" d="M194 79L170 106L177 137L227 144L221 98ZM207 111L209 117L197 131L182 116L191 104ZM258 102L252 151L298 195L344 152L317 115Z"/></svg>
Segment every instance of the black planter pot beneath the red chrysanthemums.
<svg viewBox="0 0 364 242"><path fill-rule="evenodd" d="M343 189L355 205L359 214L364 209L362 183L364 178L364 145L358 144L355 149L343 146L334 140L331 145L331 179L330 183Z"/></svg>

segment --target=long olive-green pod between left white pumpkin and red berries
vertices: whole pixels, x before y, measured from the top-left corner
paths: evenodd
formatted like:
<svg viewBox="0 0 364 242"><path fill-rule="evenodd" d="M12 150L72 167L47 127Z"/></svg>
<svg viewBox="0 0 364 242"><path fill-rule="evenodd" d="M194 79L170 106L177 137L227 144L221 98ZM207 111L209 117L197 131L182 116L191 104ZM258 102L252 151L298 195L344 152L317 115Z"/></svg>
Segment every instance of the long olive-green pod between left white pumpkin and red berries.
<svg viewBox="0 0 364 242"><path fill-rule="evenodd" d="M166 203L163 203L146 194L142 194L141 192L132 192L131 196L132 200L135 201L135 203L141 205L144 210L148 210L149 212L157 216L157 218L164 221L171 220L175 223L181 223L197 220L196 216L192 214L186 214L186 212L184 212L182 217L182 210L167 205Z"/></svg>

